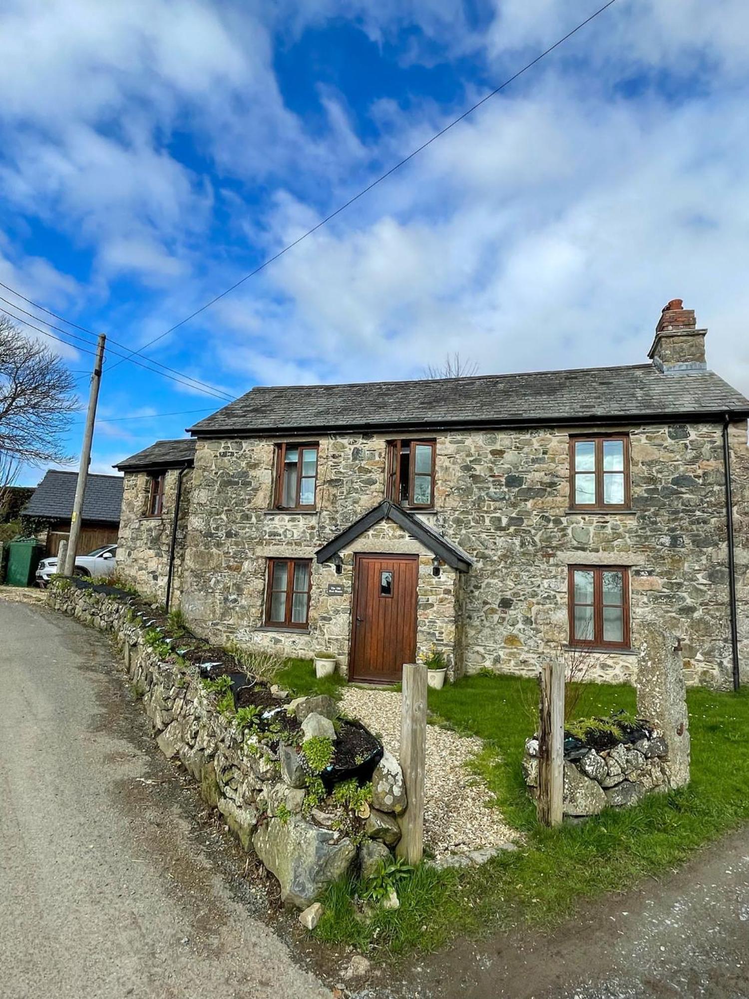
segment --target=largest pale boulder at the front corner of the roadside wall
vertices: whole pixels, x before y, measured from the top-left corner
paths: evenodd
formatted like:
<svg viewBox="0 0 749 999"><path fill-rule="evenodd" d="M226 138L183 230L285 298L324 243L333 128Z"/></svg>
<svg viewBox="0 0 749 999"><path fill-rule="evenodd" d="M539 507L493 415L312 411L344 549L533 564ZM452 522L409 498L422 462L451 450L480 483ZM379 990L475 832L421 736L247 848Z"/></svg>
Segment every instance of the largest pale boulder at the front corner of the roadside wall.
<svg viewBox="0 0 749 999"><path fill-rule="evenodd" d="M292 815L272 818L255 833L255 851L279 879L281 897L300 909L311 905L351 867L357 847L340 833Z"/></svg>

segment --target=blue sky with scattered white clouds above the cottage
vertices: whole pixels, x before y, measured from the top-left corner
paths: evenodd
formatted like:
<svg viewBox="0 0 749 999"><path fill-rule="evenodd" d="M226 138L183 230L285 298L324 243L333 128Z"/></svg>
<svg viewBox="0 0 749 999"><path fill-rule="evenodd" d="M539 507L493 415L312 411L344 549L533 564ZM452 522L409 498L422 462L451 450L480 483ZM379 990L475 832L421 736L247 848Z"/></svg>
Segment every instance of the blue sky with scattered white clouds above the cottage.
<svg viewBox="0 0 749 999"><path fill-rule="evenodd" d="M137 348L596 6L6 0L0 281ZM231 396L453 351L481 372L636 364L681 297L749 392L748 44L743 0L617 0L147 353ZM49 343L85 396L91 357ZM92 470L220 405L105 368Z"/></svg>

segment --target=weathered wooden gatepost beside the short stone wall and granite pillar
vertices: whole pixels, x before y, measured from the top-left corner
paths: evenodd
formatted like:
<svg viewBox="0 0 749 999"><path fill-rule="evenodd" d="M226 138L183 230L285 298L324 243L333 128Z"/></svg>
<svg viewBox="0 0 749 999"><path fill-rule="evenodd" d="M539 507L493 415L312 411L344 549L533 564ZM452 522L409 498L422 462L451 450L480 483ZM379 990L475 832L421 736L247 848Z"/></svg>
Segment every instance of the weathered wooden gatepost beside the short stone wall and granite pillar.
<svg viewBox="0 0 749 999"><path fill-rule="evenodd" d="M564 793L564 663L545 662L539 679L538 821L560 825Z"/></svg>

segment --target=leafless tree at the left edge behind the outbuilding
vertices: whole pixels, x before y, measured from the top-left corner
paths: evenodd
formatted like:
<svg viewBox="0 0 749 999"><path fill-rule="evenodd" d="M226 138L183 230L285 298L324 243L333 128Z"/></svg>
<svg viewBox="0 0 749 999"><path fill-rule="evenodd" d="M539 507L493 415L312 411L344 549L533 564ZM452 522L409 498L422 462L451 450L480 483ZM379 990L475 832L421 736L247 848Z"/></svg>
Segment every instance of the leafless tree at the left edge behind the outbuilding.
<svg viewBox="0 0 749 999"><path fill-rule="evenodd" d="M78 410L57 355L0 318L0 506L21 465L65 463L60 438Z"/></svg>

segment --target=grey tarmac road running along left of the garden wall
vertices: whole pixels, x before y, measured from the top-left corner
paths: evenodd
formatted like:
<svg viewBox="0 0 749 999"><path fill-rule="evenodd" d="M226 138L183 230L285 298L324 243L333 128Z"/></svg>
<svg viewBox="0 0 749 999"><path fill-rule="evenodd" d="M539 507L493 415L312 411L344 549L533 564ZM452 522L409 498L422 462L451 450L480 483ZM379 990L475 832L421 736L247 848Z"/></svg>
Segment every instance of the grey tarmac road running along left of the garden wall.
<svg viewBox="0 0 749 999"><path fill-rule="evenodd" d="M330 997L209 858L110 662L0 598L0 996Z"/></svg>

